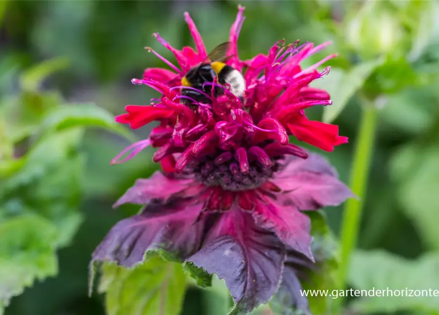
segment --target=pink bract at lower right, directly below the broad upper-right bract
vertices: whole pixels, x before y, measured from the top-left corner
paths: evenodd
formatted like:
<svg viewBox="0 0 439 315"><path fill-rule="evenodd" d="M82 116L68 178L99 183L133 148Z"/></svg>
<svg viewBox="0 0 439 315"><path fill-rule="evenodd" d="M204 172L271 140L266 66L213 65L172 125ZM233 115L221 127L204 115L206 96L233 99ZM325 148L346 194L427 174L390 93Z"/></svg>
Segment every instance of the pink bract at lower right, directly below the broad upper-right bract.
<svg viewBox="0 0 439 315"><path fill-rule="evenodd" d="M260 197L262 200L256 202L253 212L256 224L275 232L287 246L313 260L308 216L297 210L294 205L282 206L266 196Z"/></svg>

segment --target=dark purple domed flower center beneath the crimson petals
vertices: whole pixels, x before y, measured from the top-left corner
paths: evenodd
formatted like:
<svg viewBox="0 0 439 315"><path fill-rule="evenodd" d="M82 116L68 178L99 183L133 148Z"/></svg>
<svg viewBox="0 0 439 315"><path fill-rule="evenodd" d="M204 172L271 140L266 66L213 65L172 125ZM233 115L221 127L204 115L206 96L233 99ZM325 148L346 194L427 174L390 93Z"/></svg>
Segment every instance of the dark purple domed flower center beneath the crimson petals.
<svg viewBox="0 0 439 315"><path fill-rule="evenodd" d="M206 186L240 191L260 187L272 176L276 163L273 165L266 167L259 161L249 161L248 171L243 173L234 158L218 165L213 158L206 157L194 167L194 173L195 179Z"/></svg>

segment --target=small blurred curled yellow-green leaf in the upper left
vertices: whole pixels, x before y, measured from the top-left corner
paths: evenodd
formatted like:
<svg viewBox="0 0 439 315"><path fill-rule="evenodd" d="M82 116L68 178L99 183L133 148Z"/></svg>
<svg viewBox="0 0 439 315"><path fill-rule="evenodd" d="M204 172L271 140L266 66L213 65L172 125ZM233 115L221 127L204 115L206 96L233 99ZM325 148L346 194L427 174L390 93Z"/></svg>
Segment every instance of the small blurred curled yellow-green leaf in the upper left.
<svg viewBox="0 0 439 315"><path fill-rule="evenodd" d="M37 91L44 79L56 71L67 68L68 64L66 58L55 58L32 66L21 76L20 84L22 89Z"/></svg>

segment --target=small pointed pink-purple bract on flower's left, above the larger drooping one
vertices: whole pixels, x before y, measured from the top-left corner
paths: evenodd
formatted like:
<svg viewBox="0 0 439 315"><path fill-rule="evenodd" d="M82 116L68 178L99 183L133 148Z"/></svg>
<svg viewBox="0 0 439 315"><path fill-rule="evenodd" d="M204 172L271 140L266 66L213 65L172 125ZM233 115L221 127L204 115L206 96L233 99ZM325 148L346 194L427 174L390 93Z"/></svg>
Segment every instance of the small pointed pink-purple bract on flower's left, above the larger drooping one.
<svg viewBox="0 0 439 315"><path fill-rule="evenodd" d="M192 179L177 179L156 171L150 178L138 179L133 187L128 189L117 200L114 207L124 203L146 205L152 201L166 203L175 193L187 188Z"/></svg>

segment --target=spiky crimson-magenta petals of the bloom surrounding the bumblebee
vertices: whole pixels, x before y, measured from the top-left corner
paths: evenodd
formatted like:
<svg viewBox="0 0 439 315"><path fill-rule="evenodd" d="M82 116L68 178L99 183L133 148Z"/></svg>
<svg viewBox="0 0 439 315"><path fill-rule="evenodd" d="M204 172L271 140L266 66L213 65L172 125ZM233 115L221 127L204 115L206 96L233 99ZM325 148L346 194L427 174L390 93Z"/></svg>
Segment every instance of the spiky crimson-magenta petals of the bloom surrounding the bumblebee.
<svg viewBox="0 0 439 315"><path fill-rule="evenodd" d="M329 68L322 72L318 72L316 68L336 55L330 55L306 69L300 67L303 60L330 43L326 42L316 47L312 43L306 43L296 48L295 45L284 46L280 41L270 48L267 55L261 54L251 60L241 61L238 59L237 38L244 20L243 10L243 7L239 8L236 21L230 31L231 45L228 54L232 57L226 63L239 71L246 69L244 103L227 89L225 95L220 97L206 95L211 102L196 103L198 108L195 111L189 110L187 106L180 103L180 99L185 97L180 95L181 78L190 68L205 61L207 56L203 40L194 22L189 14L185 13L185 20L197 51L191 47L177 50L155 33L157 40L173 52L179 67L151 49L150 51L174 71L148 68L144 72L143 79L133 79L132 82L145 84L157 90L162 96L151 100L151 105L148 106L128 105L126 107L128 113L116 118L117 122L130 124L132 128L144 126L152 120L161 123L159 128L166 126L173 128L174 132L167 135L166 139L160 139L160 144L157 141L151 141L151 144L154 147L169 147L168 153L161 156L167 160L171 159L170 155L175 152L184 152L180 157L184 160L177 162L179 165L177 172L181 171L192 158L199 158L194 156L194 152L186 152L192 150L191 146L202 146L204 152L200 150L197 152L200 155L211 151L217 142L225 150L237 147L248 150L246 143L260 146L260 142L267 138L276 141L282 138L283 142L280 144L286 145L287 136L290 134L325 151L332 151L334 146L348 142L347 137L339 136L337 126L309 121L304 113L304 110L311 106L332 104L330 96L325 91L310 88L309 84L329 72ZM207 138L204 137L206 134L208 134ZM210 147L202 143L206 139L209 140Z"/></svg>

